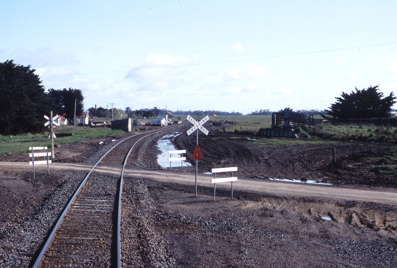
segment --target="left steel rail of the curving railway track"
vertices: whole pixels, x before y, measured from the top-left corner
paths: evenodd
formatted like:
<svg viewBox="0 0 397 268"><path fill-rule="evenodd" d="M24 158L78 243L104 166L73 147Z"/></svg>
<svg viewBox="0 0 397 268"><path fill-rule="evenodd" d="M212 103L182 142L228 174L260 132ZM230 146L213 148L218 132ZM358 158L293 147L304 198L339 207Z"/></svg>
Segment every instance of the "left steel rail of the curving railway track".
<svg viewBox="0 0 397 268"><path fill-rule="evenodd" d="M161 131L163 131L163 130L161 130ZM150 134L154 134L155 132L158 132L158 131L157 131L157 130L156 130L156 131L153 131L153 133L150 133ZM37 257L35 263L33 264L32 268L38 268L38 267L41 266L41 264L42 264L44 258L46 257L45 253L46 253L46 252L48 251L48 249L51 247L51 244L52 244L52 242L53 242L54 239L55 239L55 234L57 233L59 227L61 226L62 222L64 221L64 217L65 217L66 213L68 212L68 210L69 210L70 206L72 205L73 201L76 199L77 195L80 193L81 189L84 187L86 181L88 180L89 176L90 176L91 173L94 171L94 169L96 168L96 166L106 157L106 155L108 155L108 154L109 154L114 148L116 148L119 144L125 142L126 140L128 140L128 139L130 139L130 138L132 138L132 137L135 137L135 136L141 135L141 134L147 134L147 132L146 132L146 133L135 134L135 135L132 135L132 136L130 136L130 137L128 137L128 138L123 139L122 141L120 141L120 142L118 142L116 145L114 145L109 151L107 151L107 152L98 160L98 162L96 162L96 164L95 164L95 165L92 167L92 169L88 172L87 176L86 176L86 177L84 178L84 180L81 182L80 186L77 188L77 190L75 191L75 193L74 193L74 195L72 196L72 198L70 199L70 201L67 203L66 207L64 208L62 214L60 215L60 217L59 217L57 223L54 225L54 228L53 228L51 234L49 235L49 237L48 237L46 243L44 244L42 250L40 251L40 254L38 255L38 257ZM150 135L150 134L147 134L147 135ZM145 136L147 136L147 135L145 135ZM143 137L145 137L145 136L143 136ZM142 139L143 137L139 138L138 140ZM136 143L136 142L135 142L135 143ZM135 143L134 143L134 145L135 145ZM130 150L130 151L131 151L131 150ZM129 152L129 153L130 153L130 152ZM128 159L128 158L126 158L126 159ZM123 171L124 171L124 169L123 169ZM119 218L120 218L120 216L119 216ZM119 267L120 267L120 266L119 266Z"/></svg>

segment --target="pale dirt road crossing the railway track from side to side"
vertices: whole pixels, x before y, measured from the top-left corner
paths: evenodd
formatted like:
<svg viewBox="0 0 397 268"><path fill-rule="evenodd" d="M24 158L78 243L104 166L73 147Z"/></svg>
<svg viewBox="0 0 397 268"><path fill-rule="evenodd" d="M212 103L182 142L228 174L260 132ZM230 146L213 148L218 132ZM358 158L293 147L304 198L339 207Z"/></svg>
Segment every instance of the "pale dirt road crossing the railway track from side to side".
<svg viewBox="0 0 397 268"><path fill-rule="evenodd" d="M28 163L18 162L0 162L0 169L12 168L14 171L28 171L32 167ZM75 164L75 163L52 163L51 170L79 170L89 171L92 165ZM36 167L37 169L37 167ZM45 168L41 168L45 170ZM117 169L110 166L102 165L99 171L104 174L118 174ZM150 179L158 182L179 183L192 185L194 187L195 174L187 172L177 172L168 170L147 170L132 166L126 168L126 175L139 179ZM238 177L238 172L235 173ZM210 179L213 175L198 175L198 185L203 187L212 187ZM230 189L230 183L221 183L216 185L217 189ZM397 191L394 189L367 190L351 187L333 187L328 185L313 185L293 182L276 182L268 180L252 180L239 178L233 183L234 191L248 191L259 194L287 196L287 197L308 197L321 198L337 201L359 201L375 202L381 204L397 205Z"/></svg>

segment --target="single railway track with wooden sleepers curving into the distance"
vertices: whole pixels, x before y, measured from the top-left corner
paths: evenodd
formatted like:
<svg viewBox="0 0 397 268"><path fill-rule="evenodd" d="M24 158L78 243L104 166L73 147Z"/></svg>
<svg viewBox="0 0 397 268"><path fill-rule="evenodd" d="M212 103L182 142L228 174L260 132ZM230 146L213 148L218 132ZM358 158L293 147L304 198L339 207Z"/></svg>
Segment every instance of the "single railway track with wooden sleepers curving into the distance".
<svg viewBox="0 0 397 268"><path fill-rule="evenodd" d="M30 267L120 267L124 167L141 139L173 129L135 134L104 154L70 198ZM103 176L97 171L103 164L120 167L120 177Z"/></svg>

